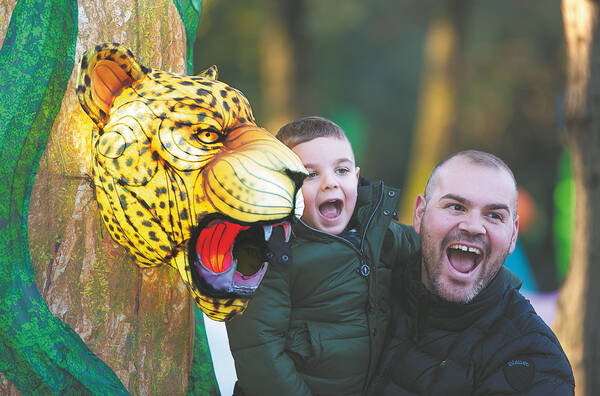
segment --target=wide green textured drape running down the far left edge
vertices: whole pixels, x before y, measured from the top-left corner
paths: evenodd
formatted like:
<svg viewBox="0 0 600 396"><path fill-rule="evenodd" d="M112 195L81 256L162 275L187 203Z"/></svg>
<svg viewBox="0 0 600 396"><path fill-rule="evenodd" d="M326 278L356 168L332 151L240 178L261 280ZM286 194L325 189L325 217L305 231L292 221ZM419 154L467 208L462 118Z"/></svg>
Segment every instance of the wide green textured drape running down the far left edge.
<svg viewBox="0 0 600 396"><path fill-rule="evenodd" d="M28 211L75 57L77 1L20 0L0 50L0 371L22 394L128 394L35 285Z"/></svg>

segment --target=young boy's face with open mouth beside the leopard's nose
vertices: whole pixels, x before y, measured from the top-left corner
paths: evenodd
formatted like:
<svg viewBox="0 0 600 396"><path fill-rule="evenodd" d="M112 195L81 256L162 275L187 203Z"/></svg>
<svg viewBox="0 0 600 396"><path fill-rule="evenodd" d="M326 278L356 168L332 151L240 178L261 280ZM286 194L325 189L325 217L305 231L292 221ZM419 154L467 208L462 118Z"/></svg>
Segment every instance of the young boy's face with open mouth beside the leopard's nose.
<svg viewBox="0 0 600 396"><path fill-rule="evenodd" d="M359 168L350 142L322 137L300 143L292 151L308 170L302 184L309 226L337 235L346 228L356 206Z"/></svg>

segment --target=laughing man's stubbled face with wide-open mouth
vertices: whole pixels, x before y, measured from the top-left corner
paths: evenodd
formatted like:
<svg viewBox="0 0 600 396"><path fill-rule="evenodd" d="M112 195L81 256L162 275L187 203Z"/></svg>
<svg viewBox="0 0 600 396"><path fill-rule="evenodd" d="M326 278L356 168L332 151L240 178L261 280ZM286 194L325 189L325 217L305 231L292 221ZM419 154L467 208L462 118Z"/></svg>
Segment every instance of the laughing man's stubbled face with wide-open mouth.
<svg viewBox="0 0 600 396"><path fill-rule="evenodd" d="M425 287L468 303L494 278L515 248L519 219L512 177L503 169L455 157L438 169L429 202L417 197Z"/></svg>

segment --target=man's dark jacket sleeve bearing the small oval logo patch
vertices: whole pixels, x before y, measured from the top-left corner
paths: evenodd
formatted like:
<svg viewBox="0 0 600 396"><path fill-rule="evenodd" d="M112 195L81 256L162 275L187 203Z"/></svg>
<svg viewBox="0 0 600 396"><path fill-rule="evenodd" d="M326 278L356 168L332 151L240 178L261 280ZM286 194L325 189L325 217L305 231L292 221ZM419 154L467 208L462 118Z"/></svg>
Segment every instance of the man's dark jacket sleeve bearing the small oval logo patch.
<svg viewBox="0 0 600 396"><path fill-rule="evenodd" d="M549 329L514 338L497 351L497 357L497 365L481 380L476 395L574 394L571 365Z"/></svg>

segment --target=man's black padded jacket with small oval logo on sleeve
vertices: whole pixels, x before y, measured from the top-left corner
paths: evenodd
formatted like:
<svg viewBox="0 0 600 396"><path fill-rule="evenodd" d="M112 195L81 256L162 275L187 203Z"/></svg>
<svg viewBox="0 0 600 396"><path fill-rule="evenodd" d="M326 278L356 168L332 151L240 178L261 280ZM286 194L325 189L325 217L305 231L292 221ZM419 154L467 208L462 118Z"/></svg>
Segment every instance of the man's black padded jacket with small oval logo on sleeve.
<svg viewBox="0 0 600 396"><path fill-rule="evenodd" d="M572 395L558 340L504 269L469 304L429 293L420 257L395 274L392 327L371 395Z"/></svg>

